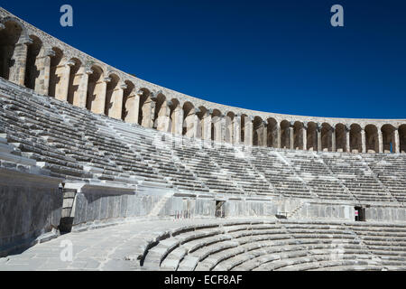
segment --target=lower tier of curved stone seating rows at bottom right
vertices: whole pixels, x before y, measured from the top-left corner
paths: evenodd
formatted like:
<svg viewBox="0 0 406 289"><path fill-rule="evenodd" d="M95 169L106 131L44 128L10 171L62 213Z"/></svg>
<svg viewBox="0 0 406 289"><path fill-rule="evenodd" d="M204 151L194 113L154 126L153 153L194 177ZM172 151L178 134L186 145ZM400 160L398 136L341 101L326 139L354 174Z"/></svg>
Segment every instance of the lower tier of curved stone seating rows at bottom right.
<svg viewBox="0 0 406 289"><path fill-rule="evenodd" d="M189 226L172 231L145 252L142 266L180 271L402 270L406 228L384 227L288 220ZM391 241L400 240L391 247Z"/></svg>

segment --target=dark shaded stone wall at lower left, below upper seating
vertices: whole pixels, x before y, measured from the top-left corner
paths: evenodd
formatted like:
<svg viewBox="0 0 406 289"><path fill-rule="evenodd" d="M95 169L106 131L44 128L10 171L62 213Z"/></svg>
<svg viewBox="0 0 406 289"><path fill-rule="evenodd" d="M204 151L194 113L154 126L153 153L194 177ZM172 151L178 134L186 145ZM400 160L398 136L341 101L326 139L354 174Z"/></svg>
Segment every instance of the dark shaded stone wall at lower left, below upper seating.
<svg viewBox="0 0 406 289"><path fill-rule="evenodd" d="M0 256L58 236L61 180L0 168Z"/></svg>

